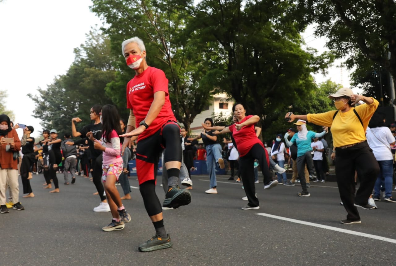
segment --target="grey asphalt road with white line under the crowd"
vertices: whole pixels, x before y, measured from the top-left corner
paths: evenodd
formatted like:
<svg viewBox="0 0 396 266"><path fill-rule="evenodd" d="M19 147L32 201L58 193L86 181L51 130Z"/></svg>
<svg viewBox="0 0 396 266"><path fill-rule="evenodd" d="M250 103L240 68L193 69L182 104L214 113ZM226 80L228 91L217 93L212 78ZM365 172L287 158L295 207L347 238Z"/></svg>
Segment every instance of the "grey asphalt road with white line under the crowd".
<svg viewBox="0 0 396 266"><path fill-rule="evenodd" d="M173 247L141 253L137 247L154 227L138 189L124 201L132 221L103 232L111 215L92 211L100 203L92 182L77 177L64 185L58 178L61 192L48 193L44 177L34 175L35 197L20 199L25 210L0 214L0 265L396 265L396 203L362 209L362 224L340 224L346 211L335 182L312 184L311 197L300 198L299 186L264 190L260 179L260 209L244 211L242 184L219 176L219 194L209 195L208 177L193 176L190 205L164 211ZM138 186L135 177L129 182Z"/></svg>

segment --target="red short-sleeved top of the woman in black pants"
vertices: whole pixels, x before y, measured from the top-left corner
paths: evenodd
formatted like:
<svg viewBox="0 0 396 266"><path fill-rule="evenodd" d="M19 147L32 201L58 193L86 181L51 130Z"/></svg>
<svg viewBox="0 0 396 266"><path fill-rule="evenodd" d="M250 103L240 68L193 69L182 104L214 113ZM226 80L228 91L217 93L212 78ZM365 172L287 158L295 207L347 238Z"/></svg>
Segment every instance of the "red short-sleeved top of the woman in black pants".
<svg viewBox="0 0 396 266"><path fill-rule="evenodd" d="M252 116L246 116L242 121L236 122L236 124L241 124L251 118ZM232 124L228 127L232 133L232 137L234 137L236 146L238 147L239 156L245 156L247 152L253 147L255 144L259 143L263 146L263 142L259 140L256 136L256 131L254 130L255 124L247 125L242 127L241 130L237 131L235 129L235 124Z"/></svg>

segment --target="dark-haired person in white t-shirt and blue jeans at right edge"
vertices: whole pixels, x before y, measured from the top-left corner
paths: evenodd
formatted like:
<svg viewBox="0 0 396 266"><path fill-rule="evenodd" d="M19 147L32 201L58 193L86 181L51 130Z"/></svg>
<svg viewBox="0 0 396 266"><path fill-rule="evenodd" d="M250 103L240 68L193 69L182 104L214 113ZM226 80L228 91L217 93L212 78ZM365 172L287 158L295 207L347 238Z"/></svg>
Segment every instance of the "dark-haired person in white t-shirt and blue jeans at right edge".
<svg viewBox="0 0 396 266"><path fill-rule="evenodd" d="M380 169L374 185L374 200L381 200L381 185L384 185L384 200L396 202L396 200L392 198L393 156L390 150L390 145L395 144L395 138L392 132L390 132L390 129L385 125L384 114L378 112L373 114L366 130L366 137Z"/></svg>

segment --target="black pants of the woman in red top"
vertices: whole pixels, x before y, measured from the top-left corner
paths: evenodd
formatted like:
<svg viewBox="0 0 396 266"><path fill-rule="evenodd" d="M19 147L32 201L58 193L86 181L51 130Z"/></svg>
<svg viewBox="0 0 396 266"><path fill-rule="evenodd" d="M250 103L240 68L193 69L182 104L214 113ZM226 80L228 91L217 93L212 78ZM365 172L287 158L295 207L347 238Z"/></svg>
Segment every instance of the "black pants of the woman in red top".
<svg viewBox="0 0 396 266"><path fill-rule="evenodd" d="M239 158L240 169L242 175L242 183L244 184L245 193L250 207L259 206L259 199L256 197L256 188L254 184L254 160L259 161L261 171L264 176L264 184L268 184L272 180L268 161L265 156L265 150L260 144L255 144L245 156Z"/></svg>

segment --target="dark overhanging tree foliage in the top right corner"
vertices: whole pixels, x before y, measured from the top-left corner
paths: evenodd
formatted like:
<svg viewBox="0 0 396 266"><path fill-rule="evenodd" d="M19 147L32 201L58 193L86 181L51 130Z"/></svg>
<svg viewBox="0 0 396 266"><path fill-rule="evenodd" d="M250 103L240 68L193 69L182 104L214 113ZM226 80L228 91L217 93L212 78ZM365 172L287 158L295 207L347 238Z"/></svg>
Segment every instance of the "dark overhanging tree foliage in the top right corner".
<svg viewBox="0 0 396 266"><path fill-rule="evenodd" d="M366 57L396 78L396 2L393 0L299 0L301 13L316 23L315 34L327 39L346 66ZM360 59L358 59L360 58Z"/></svg>

